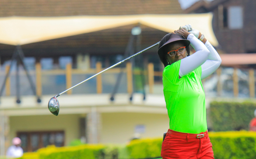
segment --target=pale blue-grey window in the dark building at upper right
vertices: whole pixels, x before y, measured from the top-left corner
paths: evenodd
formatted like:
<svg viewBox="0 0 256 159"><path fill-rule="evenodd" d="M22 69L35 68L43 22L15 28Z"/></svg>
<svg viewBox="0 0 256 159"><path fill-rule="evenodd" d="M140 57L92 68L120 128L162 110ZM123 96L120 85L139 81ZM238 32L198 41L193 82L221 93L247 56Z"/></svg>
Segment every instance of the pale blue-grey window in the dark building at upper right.
<svg viewBox="0 0 256 159"><path fill-rule="evenodd" d="M243 8L241 6L231 6L228 8L228 28L243 28Z"/></svg>

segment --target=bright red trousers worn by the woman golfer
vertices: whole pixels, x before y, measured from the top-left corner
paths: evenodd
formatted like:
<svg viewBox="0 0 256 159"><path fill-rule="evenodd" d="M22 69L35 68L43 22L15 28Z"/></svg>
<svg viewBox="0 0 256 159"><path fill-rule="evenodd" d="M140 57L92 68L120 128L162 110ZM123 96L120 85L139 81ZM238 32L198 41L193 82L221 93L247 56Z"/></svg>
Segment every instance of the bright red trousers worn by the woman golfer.
<svg viewBox="0 0 256 159"><path fill-rule="evenodd" d="M172 130L169 129L169 131ZM163 159L214 159L208 133L202 138L189 138L167 133L162 143L161 157Z"/></svg>

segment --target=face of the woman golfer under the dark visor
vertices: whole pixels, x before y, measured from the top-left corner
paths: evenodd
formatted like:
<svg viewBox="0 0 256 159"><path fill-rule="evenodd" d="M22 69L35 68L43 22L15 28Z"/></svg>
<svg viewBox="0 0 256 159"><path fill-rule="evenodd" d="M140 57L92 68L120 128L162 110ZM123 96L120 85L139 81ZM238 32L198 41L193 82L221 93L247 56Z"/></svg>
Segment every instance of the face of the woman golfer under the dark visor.
<svg viewBox="0 0 256 159"><path fill-rule="evenodd" d="M170 52L173 50L178 50L184 46L185 45L183 42L177 41L177 42L172 43L171 45L168 45L166 51ZM179 61L185 57L187 57L187 49L185 49L185 51L183 53L179 53L179 51L176 51L176 55L174 55L174 56L170 56L169 54L166 54L166 59L167 59L167 61L169 61L169 64L173 64L176 61Z"/></svg>

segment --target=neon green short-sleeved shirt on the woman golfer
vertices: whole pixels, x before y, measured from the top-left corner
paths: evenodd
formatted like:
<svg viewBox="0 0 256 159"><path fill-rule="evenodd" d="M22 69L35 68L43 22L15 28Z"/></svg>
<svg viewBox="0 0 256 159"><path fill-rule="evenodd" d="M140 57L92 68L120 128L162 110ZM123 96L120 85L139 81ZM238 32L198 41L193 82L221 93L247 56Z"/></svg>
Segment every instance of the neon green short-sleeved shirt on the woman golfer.
<svg viewBox="0 0 256 159"><path fill-rule="evenodd" d="M201 66L179 79L181 60L163 70L163 93L170 118L170 129L199 134L207 130L205 94Z"/></svg>

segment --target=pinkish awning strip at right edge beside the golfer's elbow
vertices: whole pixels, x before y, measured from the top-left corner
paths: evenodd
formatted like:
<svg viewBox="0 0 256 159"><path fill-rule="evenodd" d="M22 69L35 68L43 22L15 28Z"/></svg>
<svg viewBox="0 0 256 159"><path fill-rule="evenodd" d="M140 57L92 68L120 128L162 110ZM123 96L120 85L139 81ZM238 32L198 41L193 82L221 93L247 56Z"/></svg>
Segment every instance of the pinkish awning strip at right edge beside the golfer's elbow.
<svg viewBox="0 0 256 159"><path fill-rule="evenodd" d="M221 54L221 65L256 64L256 53L253 54Z"/></svg>

